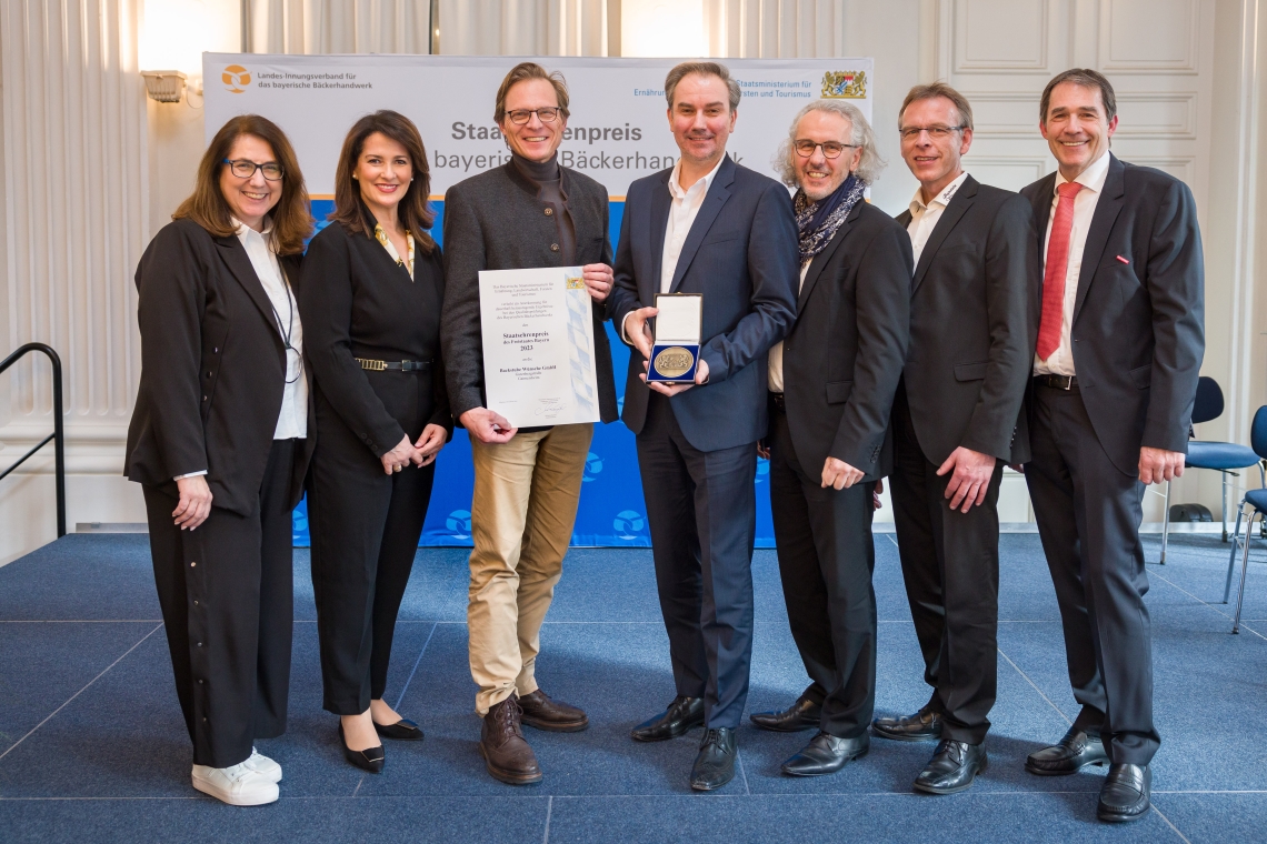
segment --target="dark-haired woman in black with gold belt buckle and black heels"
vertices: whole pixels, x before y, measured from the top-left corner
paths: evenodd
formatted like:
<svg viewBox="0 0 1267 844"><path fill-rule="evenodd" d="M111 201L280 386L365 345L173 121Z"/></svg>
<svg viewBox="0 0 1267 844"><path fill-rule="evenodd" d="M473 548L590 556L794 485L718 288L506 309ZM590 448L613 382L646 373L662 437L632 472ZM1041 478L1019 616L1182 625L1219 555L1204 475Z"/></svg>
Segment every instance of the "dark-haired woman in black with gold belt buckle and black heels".
<svg viewBox="0 0 1267 844"><path fill-rule="evenodd" d="M361 118L334 180L299 302L321 438L308 492L313 592L324 707L341 716L347 760L379 773L379 735L422 739L383 693L436 454L454 428L440 361L445 278L413 123Z"/></svg>

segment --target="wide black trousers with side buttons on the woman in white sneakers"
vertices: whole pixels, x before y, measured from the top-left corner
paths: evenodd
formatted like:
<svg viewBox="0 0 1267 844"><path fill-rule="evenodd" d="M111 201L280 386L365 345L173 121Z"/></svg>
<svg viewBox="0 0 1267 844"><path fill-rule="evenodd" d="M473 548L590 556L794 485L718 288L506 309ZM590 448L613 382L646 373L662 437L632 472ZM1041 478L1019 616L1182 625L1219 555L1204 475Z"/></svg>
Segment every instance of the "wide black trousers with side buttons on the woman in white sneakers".
<svg viewBox="0 0 1267 844"><path fill-rule="evenodd" d="M213 502L195 530L172 524L175 483L143 486L150 553L194 764L228 768L286 731L294 630L290 478L296 442L274 440L248 516Z"/></svg>

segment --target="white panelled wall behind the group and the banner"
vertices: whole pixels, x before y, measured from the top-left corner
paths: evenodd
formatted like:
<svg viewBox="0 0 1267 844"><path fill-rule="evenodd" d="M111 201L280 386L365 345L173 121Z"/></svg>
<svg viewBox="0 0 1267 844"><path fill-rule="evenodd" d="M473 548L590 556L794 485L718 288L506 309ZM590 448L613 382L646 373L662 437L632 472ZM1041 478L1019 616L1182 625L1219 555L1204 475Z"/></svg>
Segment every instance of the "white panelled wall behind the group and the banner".
<svg viewBox="0 0 1267 844"><path fill-rule="evenodd" d="M239 0L5 0L0 4L0 352L38 339L67 372L68 523L144 521L120 477L138 376L132 275L150 237L189 192L203 149L200 97L147 100L138 75L147 4L198 6L209 51L241 49ZM190 5L193 4L193 5ZM620 54L663 0L438 0L442 53ZM251 0L257 52L430 51L430 4ZM1105 71L1123 115L1115 152L1192 186L1206 244L1204 372L1228 395L1197 431L1248 440L1267 401L1267 266L1258 166L1267 132L1267 0L701 0L698 52L720 57L873 56L887 211L915 190L893 127L906 90L946 78L974 104L968 166L1019 187L1052 168L1036 132L1045 81ZM692 11L693 10L693 11ZM190 13L194 15L194 13ZM194 19L191 16L191 19ZM166 68L163 68L166 70ZM0 376L0 467L51 430L42 363ZM49 461L0 481L0 562L53 535ZM1005 521L1029 518L1005 481ZM1218 512L1218 478L1190 472L1176 500ZM1161 518L1153 502L1147 521Z"/></svg>

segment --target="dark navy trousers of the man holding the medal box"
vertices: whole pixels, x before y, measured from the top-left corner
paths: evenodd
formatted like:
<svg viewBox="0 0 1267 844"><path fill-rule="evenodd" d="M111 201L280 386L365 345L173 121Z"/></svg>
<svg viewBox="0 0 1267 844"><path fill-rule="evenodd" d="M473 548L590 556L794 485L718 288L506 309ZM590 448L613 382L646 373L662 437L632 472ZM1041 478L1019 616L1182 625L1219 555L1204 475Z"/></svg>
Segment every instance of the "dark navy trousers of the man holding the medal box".
<svg viewBox="0 0 1267 844"><path fill-rule="evenodd" d="M660 611L677 693L737 728L753 662L756 443L701 452L653 394L637 435Z"/></svg>

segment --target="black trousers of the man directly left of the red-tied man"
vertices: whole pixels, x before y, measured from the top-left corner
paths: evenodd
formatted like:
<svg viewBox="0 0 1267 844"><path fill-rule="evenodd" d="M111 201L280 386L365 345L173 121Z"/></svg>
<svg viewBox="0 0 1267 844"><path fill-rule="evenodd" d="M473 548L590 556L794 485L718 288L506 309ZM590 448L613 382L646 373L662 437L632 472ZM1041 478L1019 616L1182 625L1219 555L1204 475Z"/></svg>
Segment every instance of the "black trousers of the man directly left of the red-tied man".
<svg viewBox="0 0 1267 844"><path fill-rule="evenodd" d="M906 596L943 738L979 744L998 688L998 486L968 512L950 509L950 473L920 448L905 383L893 402L891 499Z"/></svg>

